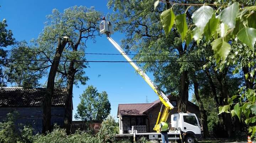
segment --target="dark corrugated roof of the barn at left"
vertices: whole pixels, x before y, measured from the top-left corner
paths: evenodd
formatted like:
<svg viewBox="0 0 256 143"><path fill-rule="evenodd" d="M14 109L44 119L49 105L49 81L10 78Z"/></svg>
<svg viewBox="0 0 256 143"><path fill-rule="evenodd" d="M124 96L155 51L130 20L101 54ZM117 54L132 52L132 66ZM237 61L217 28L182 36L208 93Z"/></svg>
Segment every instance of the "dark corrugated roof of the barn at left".
<svg viewBox="0 0 256 143"><path fill-rule="evenodd" d="M46 88L1 87L0 107L41 106ZM55 88L52 106L65 105L66 88Z"/></svg>

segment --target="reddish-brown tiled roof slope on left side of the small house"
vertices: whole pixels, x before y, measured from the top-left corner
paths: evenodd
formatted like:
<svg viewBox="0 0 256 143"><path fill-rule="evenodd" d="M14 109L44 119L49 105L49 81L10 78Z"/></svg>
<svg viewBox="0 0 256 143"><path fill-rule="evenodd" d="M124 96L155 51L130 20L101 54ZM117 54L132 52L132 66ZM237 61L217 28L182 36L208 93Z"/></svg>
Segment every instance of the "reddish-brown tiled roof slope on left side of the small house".
<svg viewBox="0 0 256 143"><path fill-rule="evenodd" d="M143 111L148 109L153 103L138 103L138 104L118 104L118 115L129 115L129 116L142 116Z"/></svg>

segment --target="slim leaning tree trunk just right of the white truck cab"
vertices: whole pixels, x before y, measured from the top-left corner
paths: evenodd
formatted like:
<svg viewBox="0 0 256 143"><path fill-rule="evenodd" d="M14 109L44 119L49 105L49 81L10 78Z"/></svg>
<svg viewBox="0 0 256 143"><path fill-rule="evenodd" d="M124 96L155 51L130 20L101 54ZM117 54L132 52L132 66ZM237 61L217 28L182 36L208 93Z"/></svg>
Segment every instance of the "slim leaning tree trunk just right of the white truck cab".
<svg viewBox="0 0 256 143"><path fill-rule="evenodd" d="M202 120L202 124L203 124L203 135L204 135L204 138L206 138L206 137L209 137L207 115L206 115L206 111L204 110L203 102L199 96L198 82L197 82L196 78L194 78L193 82L194 82L194 94L196 96L196 100L197 100L197 103L199 106L200 116L201 116L201 120Z"/></svg>

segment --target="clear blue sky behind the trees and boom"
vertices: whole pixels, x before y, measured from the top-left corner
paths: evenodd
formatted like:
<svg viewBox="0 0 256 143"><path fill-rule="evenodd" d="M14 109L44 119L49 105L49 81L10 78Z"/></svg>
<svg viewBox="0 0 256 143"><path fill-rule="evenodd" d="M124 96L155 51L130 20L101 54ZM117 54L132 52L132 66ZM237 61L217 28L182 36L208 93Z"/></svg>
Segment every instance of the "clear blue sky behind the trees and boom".
<svg viewBox="0 0 256 143"><path fill-rule="evenodd" d="M104 15L111 13L107 8L107 0L1 0L0 20L7 20L8 29L11 29L14 38L18 41L37 38L42 32L46 15L51 14L53 9L63 11L71 6L94 6L96 10ZM124 34L115 33L112 38L120 43ZM105 35L96 38L96 43L87 42L86 53L115 53L119 54L114 46L107 40ZM87 60L113 60L125 61L121 55L87 55ZM93 85L99 92L106 91L111 103L111 115L116 117L118 104L123 103L145 103L146 96L149 102L157 100L158 97L140 77L129 63L89 63L86 75L90 78L87 85L79 85L73 90L73 115L79 104L79 95L88 85ZM98 75L101 75L98 77ZM152 74L149 77L153 79ZM73 117L74 120L74 117Z"/></svg>

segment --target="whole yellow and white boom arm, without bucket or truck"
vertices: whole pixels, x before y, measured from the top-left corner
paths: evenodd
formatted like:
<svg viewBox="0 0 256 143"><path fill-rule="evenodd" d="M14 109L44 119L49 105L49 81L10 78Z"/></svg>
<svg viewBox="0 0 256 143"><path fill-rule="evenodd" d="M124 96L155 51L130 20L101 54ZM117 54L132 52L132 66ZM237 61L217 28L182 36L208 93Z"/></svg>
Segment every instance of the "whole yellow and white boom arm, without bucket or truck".
<svg viewBox="0 0 256 143"><path fill-rule="evenodd" d="M135 68L135 70L139 73L140 76L142 76L142 78L146 81L146 83L149 84L149 86L154 90L154 92L158 95L160 101L162 102L162 104L165 105L165 109L164 112L162 114L162 117L160 119L161 116L161 110L162 110L162 106L160 109L160 112L158 114L158 119L156 121L156 125L154 127L154 130L159 132L159 123L160 122L166 122L166 120L168 119L169 116L169 112L171 109L174 108L174 106L169 102L169 99L166 97L166 95L164 93L162 93L160 90L158 90L158 88L155 86L155 84L151 81L151 79L146 75L145 72L143 72L142 69L140 69L138 67L138 65L136 65L132 59L124 52L124 50L111 38L111 37L107 37L107 39L114 45L114 47L124 56L124 58L129 61L129 63L133 66L133 68Z"/></svg>

